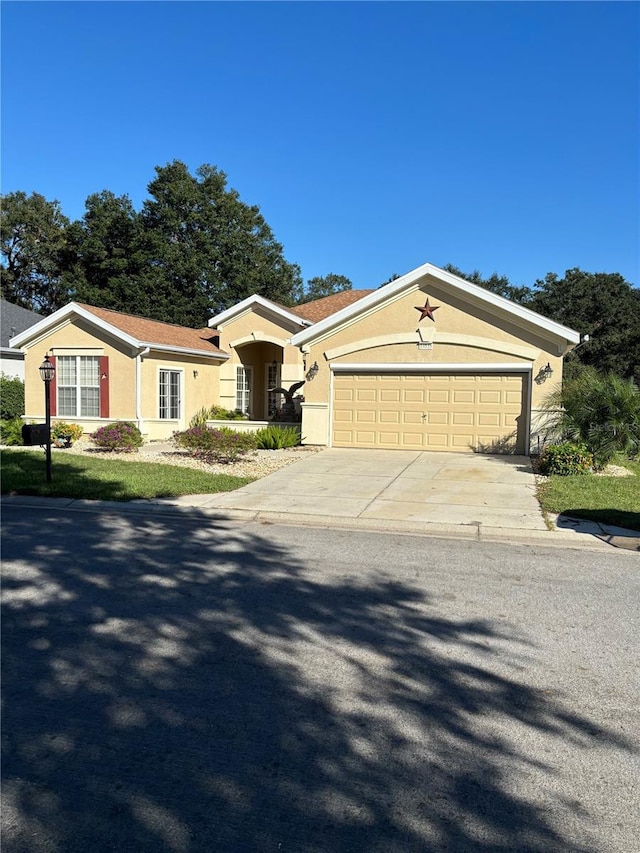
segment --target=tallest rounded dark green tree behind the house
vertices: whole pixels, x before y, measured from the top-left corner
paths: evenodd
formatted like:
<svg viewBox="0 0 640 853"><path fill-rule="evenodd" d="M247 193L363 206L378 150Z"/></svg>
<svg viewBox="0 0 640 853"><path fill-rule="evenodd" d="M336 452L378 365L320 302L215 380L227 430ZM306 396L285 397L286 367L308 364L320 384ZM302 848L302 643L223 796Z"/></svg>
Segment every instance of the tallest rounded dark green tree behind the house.
<svg viewBox="0 0 640 853"><path fill-rule="evenodd" d="M163 319L200 325L253 293L285 304L299 295L298 266L285 260L259 208L226 183L215 166L195 176L177 160L156 168L141 213L142 251Z"/></svg>

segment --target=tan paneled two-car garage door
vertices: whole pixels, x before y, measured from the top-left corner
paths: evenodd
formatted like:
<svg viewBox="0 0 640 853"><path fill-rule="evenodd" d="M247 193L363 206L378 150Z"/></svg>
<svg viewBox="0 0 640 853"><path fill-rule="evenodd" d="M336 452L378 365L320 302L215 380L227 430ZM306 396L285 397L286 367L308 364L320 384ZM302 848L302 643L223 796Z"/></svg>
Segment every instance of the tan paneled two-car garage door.
<svg viewBox="0 0 640 853"><path fill-rule="evenodd" d="M336 373L334 447L524 453L520 373Z"/></svg>

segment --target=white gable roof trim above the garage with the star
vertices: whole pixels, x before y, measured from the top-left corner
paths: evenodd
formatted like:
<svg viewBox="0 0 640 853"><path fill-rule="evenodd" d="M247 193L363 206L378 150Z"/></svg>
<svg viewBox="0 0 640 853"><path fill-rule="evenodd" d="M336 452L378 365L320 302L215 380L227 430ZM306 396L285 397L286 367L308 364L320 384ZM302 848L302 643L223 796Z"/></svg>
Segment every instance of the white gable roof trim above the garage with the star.
<svg viewBox="0 0 640 853"><path fill-rule="evenodd" d="M562 326L554 320L549 320L541 314L536 314L535 311L524 308L522 305L511 302L502 296L492 293L490 290L486 290L484 287L472 284L457 275L453 275L446 270L440 269L440 267L434 266L433 264L422 264L422 266L417 267L415 270L411 270L411 272L400 276L400 278L394 279L394 281L385 284L383 287L370 291L367 296L353 302L351 305L347 305L335 313L324 317L308 329L302 329L301 331L296 332L296 334L291 338L291 343L295 346L303 346L309 341L314 340L319 335L322 335L330 329L350 320L357 314L375 308L377 305L393 298L403 291L417 289L420 280L426 276L431 276L432 278L437 279L438 282L451 287L454 292L457 291L460 295L466 296L467 298L471 297L473 300L480 303L501 309L506 314L509 314L514 321L520 321L520 324L524 321L526 324L534 326L538 330L544 331L547 334L554 335L555 337L570 344L577 344L580 341L580 333L576 332L574 329ZM357 293L358 291L355 292ZM304 308L303 305L299 307Z"/></svg>

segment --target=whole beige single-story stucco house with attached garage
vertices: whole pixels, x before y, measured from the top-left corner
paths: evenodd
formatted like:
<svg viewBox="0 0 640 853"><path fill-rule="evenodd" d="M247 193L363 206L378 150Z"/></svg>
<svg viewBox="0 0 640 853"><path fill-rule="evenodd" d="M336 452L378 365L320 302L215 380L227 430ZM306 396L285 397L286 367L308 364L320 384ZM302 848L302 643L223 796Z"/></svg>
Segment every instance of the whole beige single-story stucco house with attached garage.
<svg viewBox="0 0 640 853"><path fill-rule="evenodd" d="M42 417L37 368L49 352L52 414L86 431L126 419L167 438L212 404L266 421L281 404L270 389L304 380L306 444L527 453L579 340L424 264L294 308L252 296L200 330L71 303L12 346L25 352L26 416Z"/></svg>

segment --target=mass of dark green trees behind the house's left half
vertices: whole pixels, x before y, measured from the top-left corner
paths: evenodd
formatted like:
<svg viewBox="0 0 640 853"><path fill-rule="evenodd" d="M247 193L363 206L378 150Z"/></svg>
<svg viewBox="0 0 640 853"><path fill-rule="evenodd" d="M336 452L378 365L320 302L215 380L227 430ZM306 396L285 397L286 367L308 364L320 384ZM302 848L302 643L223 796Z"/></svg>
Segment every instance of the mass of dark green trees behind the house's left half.
<svg viewBox="0 0 640 853"><path fill-rule="evenodd" d="M3 296L43 313L77 299L194 327L252 293L298 301L299 267L224 172L192 175L178 160L155 172L142 210L103 190L72 223L57 201L4 197Z"/></svg>

